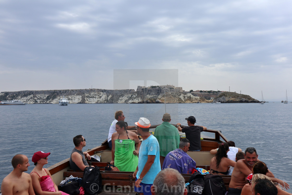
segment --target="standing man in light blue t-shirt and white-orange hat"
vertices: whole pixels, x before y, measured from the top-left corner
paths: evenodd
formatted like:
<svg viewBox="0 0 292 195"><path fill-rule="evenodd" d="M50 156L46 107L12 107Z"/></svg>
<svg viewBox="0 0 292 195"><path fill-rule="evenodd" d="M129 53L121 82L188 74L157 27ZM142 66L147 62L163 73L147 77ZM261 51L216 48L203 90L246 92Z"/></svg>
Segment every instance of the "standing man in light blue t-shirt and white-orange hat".
<svg viewBox="0 0 292 195"><path fill-rule="evenodd" d="M133 173L136 177L135 191L140 194L151 194L156 175L161 171L159 160L159 143L157 139L149 133L150 121L147 118L140 118L137 125L138 135L143 141L139 150L138 166Z"/></svg>

